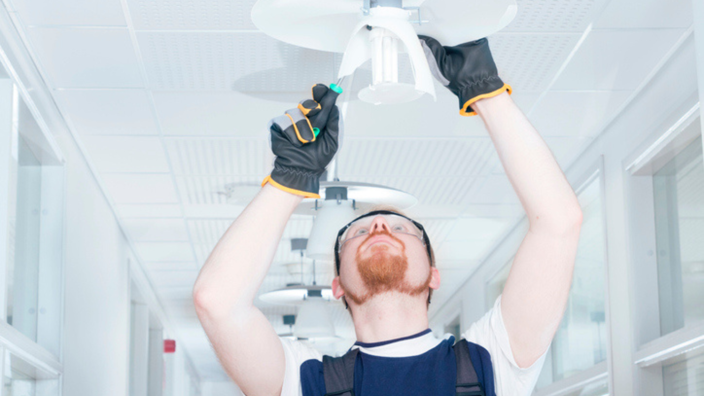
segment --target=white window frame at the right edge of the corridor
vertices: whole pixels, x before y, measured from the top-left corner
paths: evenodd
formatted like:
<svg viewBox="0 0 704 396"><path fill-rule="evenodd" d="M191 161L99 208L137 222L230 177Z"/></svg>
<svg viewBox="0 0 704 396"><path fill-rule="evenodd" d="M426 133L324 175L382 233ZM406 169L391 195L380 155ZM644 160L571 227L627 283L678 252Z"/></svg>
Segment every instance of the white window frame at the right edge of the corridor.
<svg viewBox="0 0 704 396"><path fill-rule="evenodd" d="M658 131L665 129L665 132L651 136L634 150L624 161L623 168L629 196L627 221L630 229L630 264L631 268L639 268L639 271L633 271L632 281L634 304L631 309L634 312L631 320L635 344L632 364L636 368L636 381L641 384L640 388L661 390L652 391L657 395L664 392L662 368L665 365L695 350L704 353L704 320L665 335L660 330L653 175L689 144L704 137L700 119L704 114L700 102L684 106L676 114L681 116L670 118L667 129L658 128Z"/></svg>

